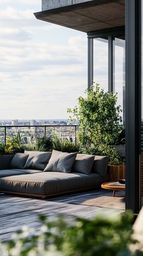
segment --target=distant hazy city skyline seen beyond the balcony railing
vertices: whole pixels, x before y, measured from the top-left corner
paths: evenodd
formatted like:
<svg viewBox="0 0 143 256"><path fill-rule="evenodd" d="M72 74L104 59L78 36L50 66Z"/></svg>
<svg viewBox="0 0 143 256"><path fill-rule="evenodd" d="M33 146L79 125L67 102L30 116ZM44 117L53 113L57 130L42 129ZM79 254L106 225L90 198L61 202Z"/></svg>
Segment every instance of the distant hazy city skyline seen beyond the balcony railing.
<svg viewBox="0 0 143 256"><path fill-rule="evenodd" d="M7 137L12 138L18 134L21 144L28 144L35 142L36 136L53 136L54 133L73 142L76 140L75 123L68 122L67 119L0 120L0 143L3 144L7 142Z"/></svg>

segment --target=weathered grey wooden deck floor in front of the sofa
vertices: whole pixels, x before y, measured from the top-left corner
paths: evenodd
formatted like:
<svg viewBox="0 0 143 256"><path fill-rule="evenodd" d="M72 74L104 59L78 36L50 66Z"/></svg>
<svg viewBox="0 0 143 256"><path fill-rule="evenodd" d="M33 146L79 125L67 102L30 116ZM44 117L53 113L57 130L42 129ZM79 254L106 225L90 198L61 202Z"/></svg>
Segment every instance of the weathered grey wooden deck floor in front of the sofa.
<svg viewBox="0 0 143 256"><path fill-rule="evenodd" d="M71 222L74 216L94 218L101 211L115 215L125 209L125 192L116 192L115 198L109 190L94 190L50 199L0 194L0 240L9 239L22 226L40 227L38 215L53 218L59 214Z"/></svg>

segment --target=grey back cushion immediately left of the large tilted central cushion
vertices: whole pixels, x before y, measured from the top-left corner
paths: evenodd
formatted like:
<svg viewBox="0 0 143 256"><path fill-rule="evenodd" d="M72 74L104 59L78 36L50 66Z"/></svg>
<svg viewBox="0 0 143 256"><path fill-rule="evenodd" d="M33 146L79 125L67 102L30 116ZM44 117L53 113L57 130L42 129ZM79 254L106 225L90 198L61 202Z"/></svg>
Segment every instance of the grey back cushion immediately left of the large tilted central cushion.
<svg viewBox="0 0 143 256"><path fill-rule="evenodd" d="M25 151L29 153L28 159L25 162L25 169L34 169L34 170L44 170L47 165L51 152L42 152L42 151Z"/></svg>

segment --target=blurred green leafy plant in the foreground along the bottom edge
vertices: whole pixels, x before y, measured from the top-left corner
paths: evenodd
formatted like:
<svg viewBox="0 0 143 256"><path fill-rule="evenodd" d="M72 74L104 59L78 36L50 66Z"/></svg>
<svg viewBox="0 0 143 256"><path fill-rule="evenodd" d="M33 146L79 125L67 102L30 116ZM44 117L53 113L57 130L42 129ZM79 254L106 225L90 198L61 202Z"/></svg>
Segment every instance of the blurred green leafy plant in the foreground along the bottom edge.
<svg viewBox="0 0 143 256"><path fill-rule="evenodd" d="M116 218L97 216L93 220L76 218L72 224L63 217L50 221L40 216L41 229L23 227L10 241L0 246L8 256L125 256L142 255L130 251L133 240L133 215L124 212ZM34 235L35 234L35 235ZM143 246L143 245L142 245ZM4 254L5 252L5 254Z"/></svg>

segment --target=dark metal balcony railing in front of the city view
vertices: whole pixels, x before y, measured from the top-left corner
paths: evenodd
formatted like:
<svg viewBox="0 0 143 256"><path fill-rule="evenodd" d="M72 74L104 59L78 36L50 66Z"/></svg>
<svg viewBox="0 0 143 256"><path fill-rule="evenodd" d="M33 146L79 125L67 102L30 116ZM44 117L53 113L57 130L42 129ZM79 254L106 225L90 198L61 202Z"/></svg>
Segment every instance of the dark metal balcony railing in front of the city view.
<svg viewBox="0 0 143 256"><path fill-rule="evenodd" d="M13 137L15 134L18 133L24 133L21 129L24 128L27 130L25 131L25 134L23 136L26 136L28 134L35 135L52 135L52 131L56 131L60 133L61 137L66 137L66 134L70 133L73 137L73 141L77 142L76 137L76 131L77 131L78 125L9 125L9 126L0 126L0 137L3 138L3 142L6 145L7 144L7 137ZM32 131L33 128L33 131ZM39 128L39 130L38 130ZM64 130L63 130L64 128ZM71 128L70 131L67 129ZM15 131L14 131L15 130ZM20 131L18 131L20 130ZM62 131L63 130L63 131Z"/></svg>

